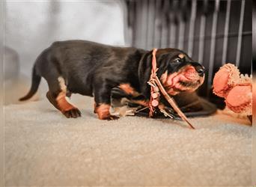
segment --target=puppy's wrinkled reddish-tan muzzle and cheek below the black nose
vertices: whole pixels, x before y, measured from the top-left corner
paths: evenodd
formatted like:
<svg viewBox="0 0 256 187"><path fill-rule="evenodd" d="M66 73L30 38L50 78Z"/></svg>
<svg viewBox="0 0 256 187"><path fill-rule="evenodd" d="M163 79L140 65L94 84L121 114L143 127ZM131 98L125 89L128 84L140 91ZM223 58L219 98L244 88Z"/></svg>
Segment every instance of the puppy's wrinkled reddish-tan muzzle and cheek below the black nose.
<svg viewBox="0 0 256 187"><path fill-rule="evenodd" d="M166 91L171 95L195 91L204 82L204 76L199 76L195 67L192 66L183 67L175 73L165 72L160 79Z"/></svg>

